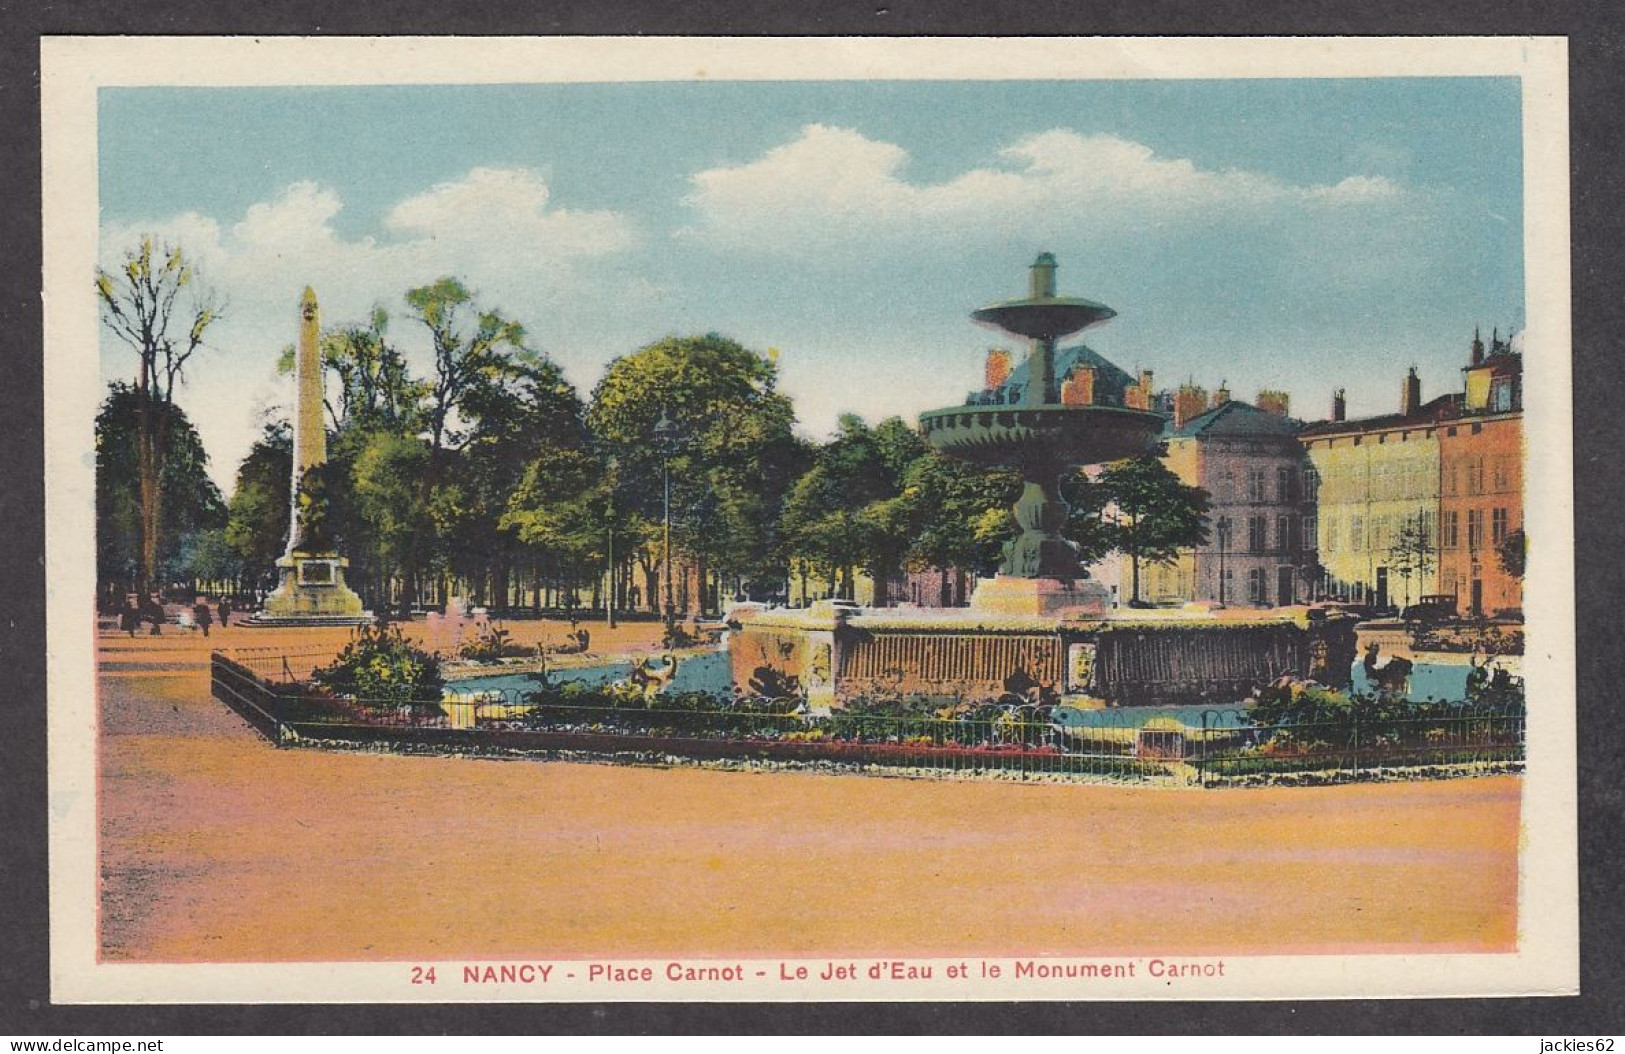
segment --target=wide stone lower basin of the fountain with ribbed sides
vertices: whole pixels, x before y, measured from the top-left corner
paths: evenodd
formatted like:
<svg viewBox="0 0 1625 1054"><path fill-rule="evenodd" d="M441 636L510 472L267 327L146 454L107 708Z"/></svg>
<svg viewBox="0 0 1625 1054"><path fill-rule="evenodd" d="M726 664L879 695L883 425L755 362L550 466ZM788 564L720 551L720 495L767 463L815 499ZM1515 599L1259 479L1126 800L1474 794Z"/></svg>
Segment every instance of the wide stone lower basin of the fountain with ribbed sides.
<svg viewBox="0 0 1625 1054"><path fill-rule="evenodd" d="M1040 685L1079 708L1233 705L1282 676L1347 687L1355 658L1354 619L1306 607L1046 616L826 601L744 616L728 645L743 690L832 708L973 702Z"/></svg>

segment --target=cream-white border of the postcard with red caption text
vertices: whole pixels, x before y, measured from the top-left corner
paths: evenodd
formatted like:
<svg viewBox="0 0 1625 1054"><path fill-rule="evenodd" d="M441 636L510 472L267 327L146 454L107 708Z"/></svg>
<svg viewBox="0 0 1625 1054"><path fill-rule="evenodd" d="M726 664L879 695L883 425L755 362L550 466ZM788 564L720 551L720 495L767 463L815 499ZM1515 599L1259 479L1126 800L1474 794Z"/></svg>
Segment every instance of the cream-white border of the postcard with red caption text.
<svg viewBox="0 0 1625 1054"><path fill-rule="evenodd" d="M471 58L478 57L478 62ZM606 75L613 71L613 75ZM1508 955L1225 958L1227 973L1168 983L947 978L886 984L436 984L408 963L125 965L96 953L94 456L101 398L96 93L104 86L405 84L694 80L1159 80L1521 76L1524 114L1526 679L1531 687L1519 950ZM1570 490L1568 50L1562 37L887 39L887 37L47 37L41 47L46 317L46 580L50 961L55 1002L504 1002L897 999L1339 999L1578 991L1573 495ZM1562 539L1563 544L1557 544ZM1170 957L1172 958L1172 957ZM1193 957L1181 957L1193 958ZM852 960L868 970L879 960ZM970 960L1009 965L1017 960ZM559 974L585 963L551 960ZM468 963L436 965L458 971ZM484 966L486 963L479 963ZM536 966L540 963L533 963ZM635 963L621 963L635 965ZM648 961L660 971L665 961ZM715 965L715 963L712 963ZM518 965L514 963L517 968ZM826 960L748 963L777 971ZM968 968L968 963L967 963ZM517 976L517 974L515 974Z"/></svg>

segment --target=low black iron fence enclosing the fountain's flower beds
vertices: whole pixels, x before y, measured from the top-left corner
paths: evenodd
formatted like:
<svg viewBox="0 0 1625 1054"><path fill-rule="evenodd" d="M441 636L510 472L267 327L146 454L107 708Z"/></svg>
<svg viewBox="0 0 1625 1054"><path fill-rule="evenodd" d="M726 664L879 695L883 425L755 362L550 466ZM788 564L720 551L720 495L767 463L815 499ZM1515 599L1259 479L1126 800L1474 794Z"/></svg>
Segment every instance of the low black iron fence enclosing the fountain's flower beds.
<svg viewBox="0 0 1625 1054"><path fill-rule="evenodd" d="M535 754L681 763L739 762L904 775L1003 773L1227 786L1464 775L1523 762L1521 703L1428 705L1373 719L1318 711L1253 723L1246 708L1069 711L1022 705L902 713L869 705L808 713L798 700L708 695L642 698L613 690L448 690L416 703L335 698L284 666L216 654L216 698L278 745L384 745L462 754ZM288 663L286 669L296 669Z"/></svg>

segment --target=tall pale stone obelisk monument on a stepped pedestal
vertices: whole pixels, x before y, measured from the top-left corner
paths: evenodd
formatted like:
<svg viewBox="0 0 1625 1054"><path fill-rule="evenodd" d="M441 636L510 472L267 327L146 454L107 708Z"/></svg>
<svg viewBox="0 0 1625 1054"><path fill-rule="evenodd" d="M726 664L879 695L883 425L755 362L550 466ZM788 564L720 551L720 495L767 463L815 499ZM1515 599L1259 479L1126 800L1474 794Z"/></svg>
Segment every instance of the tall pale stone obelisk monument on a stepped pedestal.
<svg viewBox="0 0 1625 1054"><path fill-rule="evenodd" d="M327 529L327 429L322 422L322 312L315 291L299 297L299 352L294 359L294 479L288 551L276 560L276 591L247 625L356 625L372 616L344 585L349 560Z"/></svg>

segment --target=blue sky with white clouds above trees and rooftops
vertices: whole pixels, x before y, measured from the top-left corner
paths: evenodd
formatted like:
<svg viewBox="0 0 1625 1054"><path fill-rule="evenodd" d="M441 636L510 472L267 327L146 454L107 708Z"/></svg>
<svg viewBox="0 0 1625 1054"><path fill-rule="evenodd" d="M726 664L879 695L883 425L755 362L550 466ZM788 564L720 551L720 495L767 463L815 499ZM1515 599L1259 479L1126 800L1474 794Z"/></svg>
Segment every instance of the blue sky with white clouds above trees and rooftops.
<svg viewBox="0 0 1625 1054"><path fill-rule="evenodd" d="M959 403L1024 296L1112 305L1092 348L1159 385L1324 417L1458 390L1524 322L1514 78L104 88L101 261L179 242L228 302L179 401L229 494L306 284L323 325L444 274L587 396L616 356L777 348L801 430ZM135 357L104 333L104 380Z"/></svg>

